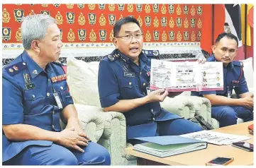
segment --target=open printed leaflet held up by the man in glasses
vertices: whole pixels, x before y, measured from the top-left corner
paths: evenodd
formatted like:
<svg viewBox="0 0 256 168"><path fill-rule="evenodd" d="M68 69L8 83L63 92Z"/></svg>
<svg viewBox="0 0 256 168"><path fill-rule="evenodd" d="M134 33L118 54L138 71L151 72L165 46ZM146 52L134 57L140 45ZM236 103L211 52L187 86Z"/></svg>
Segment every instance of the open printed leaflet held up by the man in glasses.
<svg viewBox="0 0 256 168"><path fill-rule="evenodd" d="M160 88L169 92L223 90L223 64L152 59L150 90Z"/></svg>

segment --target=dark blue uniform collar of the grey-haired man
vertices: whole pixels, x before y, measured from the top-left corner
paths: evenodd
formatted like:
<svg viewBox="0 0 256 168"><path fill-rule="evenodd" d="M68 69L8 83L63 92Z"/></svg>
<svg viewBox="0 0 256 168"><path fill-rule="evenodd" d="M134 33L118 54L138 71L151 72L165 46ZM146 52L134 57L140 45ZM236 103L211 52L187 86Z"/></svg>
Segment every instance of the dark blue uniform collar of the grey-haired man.
<svg viewBox="0 0 256 168"><path fill-rule="evenodd" d="M38 66L38 64L36 64L35 61L33 61L33 59L28 56L28 53L26 51L22 53L21 57L23 61L26 62L31 78L35 78L36 76L38 76L39 73L43 71L43 68Z"/></svg>

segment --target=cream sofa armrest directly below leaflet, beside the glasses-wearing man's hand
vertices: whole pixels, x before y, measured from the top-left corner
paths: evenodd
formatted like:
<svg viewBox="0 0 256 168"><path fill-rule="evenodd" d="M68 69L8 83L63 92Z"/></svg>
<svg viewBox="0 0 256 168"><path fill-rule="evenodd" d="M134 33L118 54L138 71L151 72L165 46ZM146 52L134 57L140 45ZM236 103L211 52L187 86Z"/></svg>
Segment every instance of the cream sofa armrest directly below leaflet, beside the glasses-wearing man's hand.
<svg viewBox="0 0 256 168"><path fill-rule="evenodd" d="M160 104L168 112L184 116L185 119L189 119L195 114L194 104L189 100L189 96L165 97L165 100Z"/></svg>

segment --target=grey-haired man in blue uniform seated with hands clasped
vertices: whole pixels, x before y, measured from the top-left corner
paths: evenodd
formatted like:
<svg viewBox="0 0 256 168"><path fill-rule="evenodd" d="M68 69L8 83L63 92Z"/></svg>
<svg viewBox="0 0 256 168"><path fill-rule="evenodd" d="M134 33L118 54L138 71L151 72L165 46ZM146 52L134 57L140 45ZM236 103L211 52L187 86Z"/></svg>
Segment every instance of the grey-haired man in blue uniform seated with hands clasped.
<svg viewBox="0 0 256 168"><path fill-rule="evenodd" d="M60 57L60 30L48 15L24 18L25 51L3 68L4 165L109 165L84 134ZM61 131L60 118L66 128Z"/></svg>

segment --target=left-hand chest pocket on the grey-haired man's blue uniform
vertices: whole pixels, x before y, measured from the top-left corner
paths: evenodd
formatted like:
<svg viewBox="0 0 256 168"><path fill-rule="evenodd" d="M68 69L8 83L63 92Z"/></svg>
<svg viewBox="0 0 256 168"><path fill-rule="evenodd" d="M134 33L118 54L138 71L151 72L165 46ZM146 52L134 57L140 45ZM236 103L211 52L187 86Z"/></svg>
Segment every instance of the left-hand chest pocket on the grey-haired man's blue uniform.
<svg viewBox="0 0 256 168"><path fill-rule="evenodd" d="M45 104L45 97L39 89L26 90L24 92L24 104L28 114L39 114Z"/></svg>

